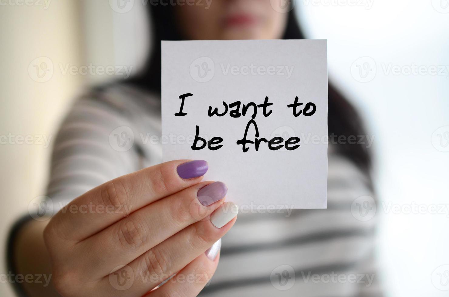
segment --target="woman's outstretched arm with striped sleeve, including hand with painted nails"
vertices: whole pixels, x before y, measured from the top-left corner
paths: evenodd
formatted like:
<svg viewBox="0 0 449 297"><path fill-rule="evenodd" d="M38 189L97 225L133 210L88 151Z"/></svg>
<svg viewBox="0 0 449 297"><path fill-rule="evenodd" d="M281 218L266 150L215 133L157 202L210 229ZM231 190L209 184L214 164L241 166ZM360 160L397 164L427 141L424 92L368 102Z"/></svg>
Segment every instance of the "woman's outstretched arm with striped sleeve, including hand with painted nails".
<svg viewBox="0 0 449 297"><path fill-rule="evenodd" d="M128 173L138 167L140 156L137 149L122 152L110 142L110 131L128 126L117 122L119 114L103 114L101 119L103 108L88 117L85 110L74 110L58 137L48 188L48 201L64 211L48 223L24 225L15 236L15 258L21 261L17 272L52 275L53 287L24 284L26 292L55 296L56 289L66 297L196 296L218 265L219 248L211 246L220 245L217 240L237 215L237 205L224 203L225 185L201 182L208 168L201 160L176 160ZM102 125L86 125L98 119ZM117 174L124 175L109 180ZM95 187L102 180L106 182ZM205 196L210 199L200 198ZM69 200L66 206L60 204ZM93 205L93 211L82 212L86 205ZM174 281L161 286L174 273Z"/></svg>

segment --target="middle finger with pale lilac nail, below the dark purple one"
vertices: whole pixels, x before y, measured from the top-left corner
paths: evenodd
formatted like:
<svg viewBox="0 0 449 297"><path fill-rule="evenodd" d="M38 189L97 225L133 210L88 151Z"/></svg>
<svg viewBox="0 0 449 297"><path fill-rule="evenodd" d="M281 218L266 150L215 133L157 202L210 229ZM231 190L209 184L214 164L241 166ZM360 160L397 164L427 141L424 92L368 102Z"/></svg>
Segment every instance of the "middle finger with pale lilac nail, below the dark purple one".
<svg viewBox="0 0 449 297"><path fill-rule="evenodd" d="M130 263L185 227L207 218L224 201L227 188L221 182L203 182L151 203L105 230L80 242L86 255L78 260L98 267L99 276ZM85 251L85 252L83 252Z"/></svg>

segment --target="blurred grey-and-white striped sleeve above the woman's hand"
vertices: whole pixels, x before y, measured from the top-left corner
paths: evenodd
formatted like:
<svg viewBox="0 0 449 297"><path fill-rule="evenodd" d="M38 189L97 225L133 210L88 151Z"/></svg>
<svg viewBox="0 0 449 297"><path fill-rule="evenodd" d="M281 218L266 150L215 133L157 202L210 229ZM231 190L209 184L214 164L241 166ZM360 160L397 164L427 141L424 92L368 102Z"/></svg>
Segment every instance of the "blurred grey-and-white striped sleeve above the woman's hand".
<svg viewBox="0 0 449 297"><path fill-rule="evenodd" d="M47 200L53 214L96 186L141 168L132 121L94 96L75 101L56 137Z"/></svg>

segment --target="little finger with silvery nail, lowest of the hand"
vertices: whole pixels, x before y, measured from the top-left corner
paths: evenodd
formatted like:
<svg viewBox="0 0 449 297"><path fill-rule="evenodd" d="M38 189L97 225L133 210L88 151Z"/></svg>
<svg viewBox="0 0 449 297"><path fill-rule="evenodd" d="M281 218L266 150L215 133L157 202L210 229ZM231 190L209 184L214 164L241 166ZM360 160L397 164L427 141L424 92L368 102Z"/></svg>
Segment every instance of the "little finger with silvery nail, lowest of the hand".
<svg viewBox="0 0 449 297"><path fill-rule="evenodd" d="M214 275L220 258L219 254L218 251L214 258L207 257L207 253L201 254L160 288L145 296L197 296Z"/></svg>

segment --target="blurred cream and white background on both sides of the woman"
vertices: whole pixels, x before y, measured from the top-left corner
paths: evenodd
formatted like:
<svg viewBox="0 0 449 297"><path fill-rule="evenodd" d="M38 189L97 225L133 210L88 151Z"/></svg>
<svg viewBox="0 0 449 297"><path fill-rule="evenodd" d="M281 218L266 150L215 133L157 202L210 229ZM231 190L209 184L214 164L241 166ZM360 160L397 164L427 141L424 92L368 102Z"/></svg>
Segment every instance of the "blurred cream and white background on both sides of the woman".
<svg viewBox="0 0 449 297"><path fill-rule="evenodd" d="M447 296L449 2L293 2L306 36L328 39L330 79L361 109L374 136L387 296ZM28 203L44 195L51 151L44 139L54 137L71 100L123 76L101 74L100 67L136 72L142 64L151 46L142 7L149 2L126 3L0 1L0 135L8 136L0 145L2 242ZM89 65L94 74L79 73ZM28 135L30 144L21 144ZM3 258L0 267L6 273ZM0 295L12 295L9 284L0 283Z"/></svg>

